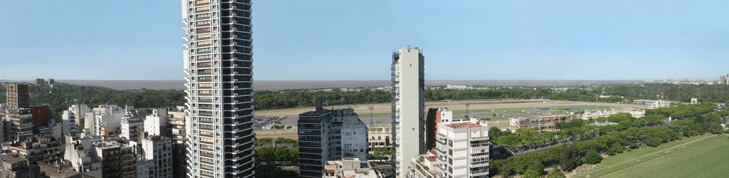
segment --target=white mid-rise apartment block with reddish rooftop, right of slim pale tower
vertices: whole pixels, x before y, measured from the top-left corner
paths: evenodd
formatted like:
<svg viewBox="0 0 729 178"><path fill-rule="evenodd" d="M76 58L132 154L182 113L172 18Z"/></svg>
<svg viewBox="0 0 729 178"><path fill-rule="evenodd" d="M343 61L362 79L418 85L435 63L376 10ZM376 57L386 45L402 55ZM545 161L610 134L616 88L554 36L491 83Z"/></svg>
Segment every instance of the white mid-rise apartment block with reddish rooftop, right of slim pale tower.
<svg viewBox="0 0 729 178"><path fill-rule="evenodd" d="M488 177L489 144L486 122L440 123L436 140L440 177Z"/></svg>

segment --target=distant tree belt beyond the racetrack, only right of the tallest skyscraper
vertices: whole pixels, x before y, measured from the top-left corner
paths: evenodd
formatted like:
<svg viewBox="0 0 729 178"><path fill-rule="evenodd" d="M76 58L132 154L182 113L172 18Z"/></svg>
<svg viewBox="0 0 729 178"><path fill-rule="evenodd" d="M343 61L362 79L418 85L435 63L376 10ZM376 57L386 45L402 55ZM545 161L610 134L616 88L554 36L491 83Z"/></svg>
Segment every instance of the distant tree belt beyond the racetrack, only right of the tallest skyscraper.
<svg viewBox="0 0 729 178"><path fill-rule="evenodd" d="M671 101L689 102L691 98L701 101L727 102L729 90L725 85L671 85L671 84L620 84L601 85L594 87L580 87L564 91L550 88L496 88L488 90L425 90L426 101L441 101L446 99L499 99L499 98L551 98L553 100L567 101L599 101L607 103L630 102L635 99L650 99L656 95L664 96ZM690 94L688 94L690 93ZM597 98L597 95L612 95L608 98ZM316 99L324 104L367 104L386 103L390 101L388 90L360 90L342 91L257 91L257 109L277 109L289 107L311 107Z"/></svg>

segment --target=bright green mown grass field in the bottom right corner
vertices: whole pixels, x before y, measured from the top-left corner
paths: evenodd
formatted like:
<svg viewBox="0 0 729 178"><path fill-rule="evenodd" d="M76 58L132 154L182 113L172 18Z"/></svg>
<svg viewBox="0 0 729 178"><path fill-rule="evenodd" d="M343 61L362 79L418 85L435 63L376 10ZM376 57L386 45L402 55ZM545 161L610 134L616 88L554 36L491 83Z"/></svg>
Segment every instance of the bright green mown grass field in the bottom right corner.
<svg viewBox="0 0 729 178"><path fill-rule="evenodd" d="M726 177L728 148L727 135L694 136L609 156L598 171L577 177ZM604 166L610 167L600 169Z"/></svg>

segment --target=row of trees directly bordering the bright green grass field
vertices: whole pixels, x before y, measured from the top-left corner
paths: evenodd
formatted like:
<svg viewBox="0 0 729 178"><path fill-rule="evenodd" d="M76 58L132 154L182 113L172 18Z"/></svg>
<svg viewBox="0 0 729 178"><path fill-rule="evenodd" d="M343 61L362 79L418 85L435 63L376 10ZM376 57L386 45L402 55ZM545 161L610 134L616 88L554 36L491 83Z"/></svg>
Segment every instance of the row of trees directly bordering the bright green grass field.
<svg viewBox="0 0 729 178"><path fill-rule="evenodd" d="M600 163L600 153L615 155L622 153L625 149L657 147L660 144L671 142L675 139L682 139L682 137L697 136L707 132L722 133L720 118L725 116L729 116L729 111L722 110L719 112L704 113L703 115L696 114L671 125L647 128L631 127L623 131L613 130L604 135L595 136L593 139L582 140L581 142L569 144L564 147L553 147L545 152L533 152L505 159L491 160L491 172L504 176L512 174L528 175L534 172L541 174L544 166L552 165L559 165L563 171L572 171L572 169L577 168L582 163ZM610 119L607 118L607 120ZM566 129L585 128L589 126ZM599 128L609 126L612 125L601 126ZM495 144L504 144L499 143L501 141L498 140L510 136L504 135L504 133L498 134L500 136L499 139L494 141ZM521 134L523 135L523 133ZM492 133L491 135L493 136L494 134ZM519 131L515 135L520 135Z"/></svg>

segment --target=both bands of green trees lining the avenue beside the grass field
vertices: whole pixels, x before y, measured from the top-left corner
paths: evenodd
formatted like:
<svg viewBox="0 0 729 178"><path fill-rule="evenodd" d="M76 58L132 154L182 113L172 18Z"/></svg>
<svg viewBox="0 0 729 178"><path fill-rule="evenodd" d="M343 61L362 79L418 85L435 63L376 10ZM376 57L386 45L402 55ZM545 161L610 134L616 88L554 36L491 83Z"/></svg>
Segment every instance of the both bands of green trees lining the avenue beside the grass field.
<svg viewBox="0 0 729 178"><path fill-rule="evenodd" d="M601 153L615 155L625 150L639 147L658 147L660 144L682 139L683 137L698 136L704 133L723 133L720 119L721 117L729 116L729 111L703 110L703 108L708 108L712 105L704 104L693 107L679 105L671 107L671 109L658 109L690 114L671 125L653 127L644 125L651 122L658 122L658 120L655 120L658 118L663 120L664 115L659 114L662 112L650 111L647 112L650 113L650 115L646 116L648 118L642 117L639 119L625 117L625 115L605 117L599 120L609 120L610 122L617 122L619 124L599 127L583 125L579 123L580 121L573 121L574 123L561 124L561 127L564 127L564 129L557 131L557 133L534 133L533 130L518 130L515 134L510 134L497 131L498 129L492 129L490 135L496 136L496 139L492 139L494 140L494 144L499 146L504 145L505 147L518 148L524 147L524 145L538 144L543 142L543 140L558 137L560 134L572 134L572 131L575 129L578 130L577 134L572 136L580 137L582 140L574 142L574 144L567 144L563 147L552 147L545 152L531 152L524 155L491 160L491 173L501 174L502 176L510 176L513 174L523 174L525 176L534 176L536 174L539 176L543 174L545 166L553 165L558 165L563 171L572 171L583 163L600 163L602 160Z"/></svg>

